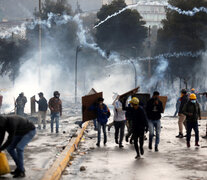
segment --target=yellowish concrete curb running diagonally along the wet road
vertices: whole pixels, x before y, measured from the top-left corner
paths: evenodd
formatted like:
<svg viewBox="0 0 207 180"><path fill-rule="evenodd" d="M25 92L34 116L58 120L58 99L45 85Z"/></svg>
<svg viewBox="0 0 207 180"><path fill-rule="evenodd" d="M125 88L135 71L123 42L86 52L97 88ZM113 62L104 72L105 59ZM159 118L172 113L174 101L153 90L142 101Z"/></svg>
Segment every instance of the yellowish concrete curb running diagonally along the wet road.
<svg viewBox="0 0 207 180"><path fill-rule="evenodd" d="M69 160L71 159L72 153L77 149L78 143L80 142L85 129L87 128L89 121L85 122L84 127L79 130L78 136L72 138L69 144L65 147L64 151L56 159L53 165L46 171L41 180L59 180L62 172L65 170Z"/></svg>

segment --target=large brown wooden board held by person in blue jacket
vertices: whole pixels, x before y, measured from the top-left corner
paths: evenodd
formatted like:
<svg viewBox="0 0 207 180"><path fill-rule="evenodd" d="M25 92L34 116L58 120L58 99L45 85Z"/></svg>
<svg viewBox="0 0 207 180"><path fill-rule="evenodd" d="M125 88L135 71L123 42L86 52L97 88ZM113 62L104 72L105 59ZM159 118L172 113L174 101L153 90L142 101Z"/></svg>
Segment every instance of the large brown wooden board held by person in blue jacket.
<svg viewBox="0 0 207 180"><path fill-rule="evenodd" d="M89 111L89 107L97 102L98 98L103 97L103 93L95 93L91 95L86 95L82 97L82 121L89 121L96 119L96 113L94 111Z"/></svg>

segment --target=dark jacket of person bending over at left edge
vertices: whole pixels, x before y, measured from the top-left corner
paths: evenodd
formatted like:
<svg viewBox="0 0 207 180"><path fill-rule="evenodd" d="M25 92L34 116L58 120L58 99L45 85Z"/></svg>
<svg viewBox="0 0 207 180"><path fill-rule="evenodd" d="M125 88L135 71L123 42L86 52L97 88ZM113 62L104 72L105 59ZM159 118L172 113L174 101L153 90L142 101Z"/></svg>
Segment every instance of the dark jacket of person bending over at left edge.
<svg viewBox="0 0 207 180"><path fill-rule="evenodd" d="M23 117L0 116L0 150L6 149L11 144L14 136L24 136L34 129L35 125ZM6 132L9 136L7 141L1 146Z"/></svg>

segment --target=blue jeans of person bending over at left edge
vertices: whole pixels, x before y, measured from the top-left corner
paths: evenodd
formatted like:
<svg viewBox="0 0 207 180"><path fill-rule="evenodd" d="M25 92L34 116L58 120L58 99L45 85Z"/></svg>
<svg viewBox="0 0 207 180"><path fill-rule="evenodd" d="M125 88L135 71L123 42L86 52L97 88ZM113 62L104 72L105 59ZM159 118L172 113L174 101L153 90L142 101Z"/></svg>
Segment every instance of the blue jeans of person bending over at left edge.
<svg viewBox="0 0 207 180"><path fill-rule="evenodd" d="M36 130L31 130L23 136L15 136L11 144L8 146L7 151L13 158L17 169L24 172L24 148L35 136Z"/></svg>

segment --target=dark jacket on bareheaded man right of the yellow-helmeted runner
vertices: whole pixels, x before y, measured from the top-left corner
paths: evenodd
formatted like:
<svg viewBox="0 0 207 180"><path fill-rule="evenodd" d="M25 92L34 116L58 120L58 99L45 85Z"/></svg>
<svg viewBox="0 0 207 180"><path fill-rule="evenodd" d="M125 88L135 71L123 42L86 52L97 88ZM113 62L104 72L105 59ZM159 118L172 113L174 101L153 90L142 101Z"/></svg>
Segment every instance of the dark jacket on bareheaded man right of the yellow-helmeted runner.
<svg viewBox="0 0 207 180"><path fill-rule="evenodd" d="M158 104L155 104L155 99L151 98L147 102L146 112L149 120L161 119L161 113L163 113L162 102L158 99Z"/></svg>

